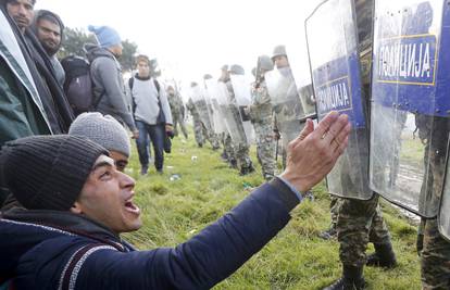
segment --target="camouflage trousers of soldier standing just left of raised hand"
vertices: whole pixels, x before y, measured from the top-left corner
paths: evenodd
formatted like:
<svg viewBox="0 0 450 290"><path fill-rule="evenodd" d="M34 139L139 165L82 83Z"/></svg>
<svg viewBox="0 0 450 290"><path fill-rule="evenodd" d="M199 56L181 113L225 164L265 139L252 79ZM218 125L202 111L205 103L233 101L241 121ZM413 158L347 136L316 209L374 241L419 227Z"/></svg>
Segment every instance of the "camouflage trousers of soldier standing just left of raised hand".
<svg viewBox="0 0 450 290"><path fill-rule="evenodd" d="M275 146L274 133L270 123L253 123L257 135L257 156L262 167L265 179L272 179L275 175Z"/></svg>

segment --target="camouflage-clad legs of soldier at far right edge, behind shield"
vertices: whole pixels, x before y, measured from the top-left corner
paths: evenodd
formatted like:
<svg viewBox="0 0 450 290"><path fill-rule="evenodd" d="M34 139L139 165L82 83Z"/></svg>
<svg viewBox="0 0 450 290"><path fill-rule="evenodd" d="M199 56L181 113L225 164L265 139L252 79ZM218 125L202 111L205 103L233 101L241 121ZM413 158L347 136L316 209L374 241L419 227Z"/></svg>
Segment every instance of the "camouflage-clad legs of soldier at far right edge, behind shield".
<svg viewBox="0 0 450 290"><path fill-rule="evenodd" d="M428 167L421 189L420 204L439 206L446 171L450 121L417 114L418 137L425 143L424 166ZM450 289L450 242L438 230L436 218L426 219L423 232L421 274L423 289Z"/></svg>

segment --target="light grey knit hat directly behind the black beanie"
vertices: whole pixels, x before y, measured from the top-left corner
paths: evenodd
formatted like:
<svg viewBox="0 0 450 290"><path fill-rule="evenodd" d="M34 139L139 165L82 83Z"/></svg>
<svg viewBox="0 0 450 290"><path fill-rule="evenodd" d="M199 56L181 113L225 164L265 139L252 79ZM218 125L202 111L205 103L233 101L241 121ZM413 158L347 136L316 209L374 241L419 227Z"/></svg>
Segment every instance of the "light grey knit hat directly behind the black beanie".
<svg viewBox="0 0 450 290"><path fill-rule="evenodd" d="M110 151L129 157L132 149L128 134L114 117L101 113L83 113L68 128L70 135L85 136Z"/></svg>

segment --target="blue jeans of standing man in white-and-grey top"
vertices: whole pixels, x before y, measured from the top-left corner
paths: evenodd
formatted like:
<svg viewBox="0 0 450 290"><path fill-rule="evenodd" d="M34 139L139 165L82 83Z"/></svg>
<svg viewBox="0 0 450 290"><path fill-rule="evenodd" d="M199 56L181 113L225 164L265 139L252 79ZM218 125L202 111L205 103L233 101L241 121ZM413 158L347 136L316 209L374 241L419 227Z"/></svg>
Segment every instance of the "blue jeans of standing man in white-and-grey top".
<svg viewBox="0 0 450 290"><path fill-rule="evenodd" d="M139 138L136 139L136 146L139 153L140 165L149 165L149 146L151 140L154 152L154 167L157 171L162 171L164 163L164 124L148 125L141 121L136 121L136 127L139 130Z"/></svg>

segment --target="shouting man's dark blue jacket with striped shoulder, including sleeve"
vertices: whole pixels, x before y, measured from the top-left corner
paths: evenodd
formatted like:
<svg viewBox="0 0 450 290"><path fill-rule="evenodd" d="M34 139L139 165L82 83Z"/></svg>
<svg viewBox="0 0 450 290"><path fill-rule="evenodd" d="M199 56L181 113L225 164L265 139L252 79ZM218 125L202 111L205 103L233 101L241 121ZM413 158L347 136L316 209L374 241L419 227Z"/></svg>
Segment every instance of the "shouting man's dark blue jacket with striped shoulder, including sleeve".
<svg viewBox="0 0 450 290"><path fill-rule="evenodd" d="M267 243L299 203L275 178L175 248L135 251L67 212L13 210L0 219L0 275L16 289L209 289Z"/></svg>

